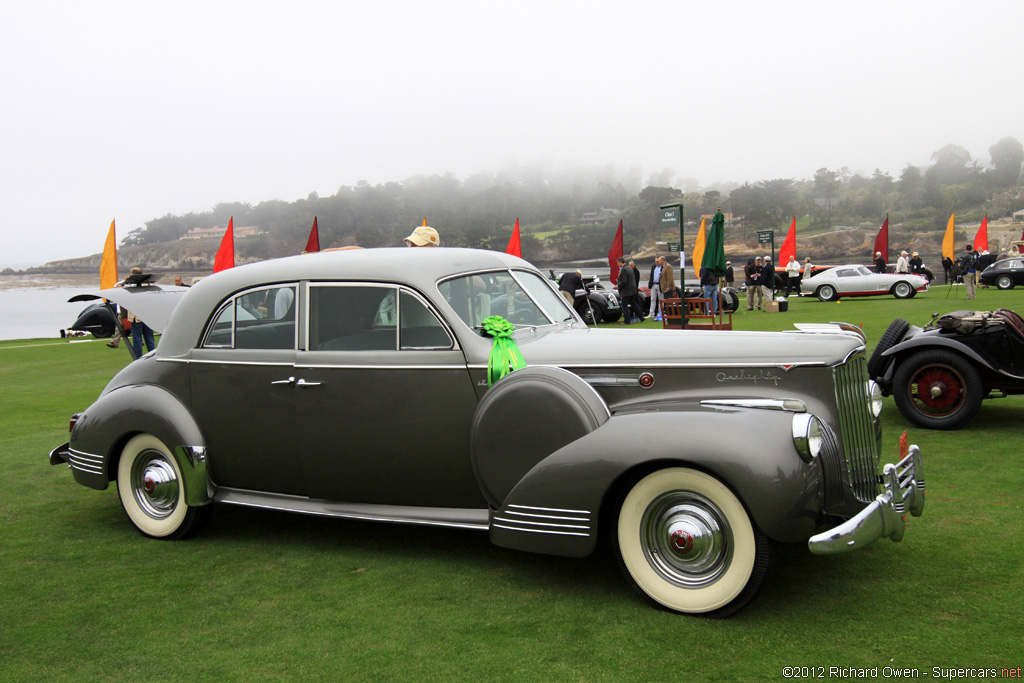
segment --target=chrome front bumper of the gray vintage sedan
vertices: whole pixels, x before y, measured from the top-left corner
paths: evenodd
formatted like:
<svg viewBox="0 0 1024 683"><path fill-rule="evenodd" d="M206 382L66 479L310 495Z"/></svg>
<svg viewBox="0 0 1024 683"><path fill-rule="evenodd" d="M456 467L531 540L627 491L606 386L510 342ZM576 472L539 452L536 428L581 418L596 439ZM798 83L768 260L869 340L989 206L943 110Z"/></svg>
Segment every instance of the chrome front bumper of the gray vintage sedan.
<svg viewBox="0 0 1024 683"><path fill-rule="evenodd" d="M812 536L807 546L815 555L835 555L862 548L878 539L903 540L906 513L920 517L925 510L925 470L921 449L911 445L906 456L882 470L886 490L857 515L835 528Z"/></svg>

